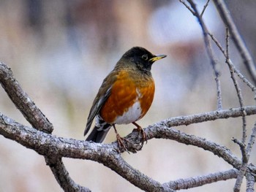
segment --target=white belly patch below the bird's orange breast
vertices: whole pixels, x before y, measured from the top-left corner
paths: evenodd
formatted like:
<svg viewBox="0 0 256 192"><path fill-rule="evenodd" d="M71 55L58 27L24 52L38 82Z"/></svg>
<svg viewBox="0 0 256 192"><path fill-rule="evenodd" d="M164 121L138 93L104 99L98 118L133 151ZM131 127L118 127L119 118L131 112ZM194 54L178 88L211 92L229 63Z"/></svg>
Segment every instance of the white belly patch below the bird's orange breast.
<svg viewBox="0 0 256 192"><path fill-rule="evenodd" d="M118 116L115 120L116 124L128 124L135 122L140 118L141 115L141 108L140 108L140 102L137 100L135 104L132 105L132 107L129 107L129 110L127 112L124 112L122 116Z"/></svg>

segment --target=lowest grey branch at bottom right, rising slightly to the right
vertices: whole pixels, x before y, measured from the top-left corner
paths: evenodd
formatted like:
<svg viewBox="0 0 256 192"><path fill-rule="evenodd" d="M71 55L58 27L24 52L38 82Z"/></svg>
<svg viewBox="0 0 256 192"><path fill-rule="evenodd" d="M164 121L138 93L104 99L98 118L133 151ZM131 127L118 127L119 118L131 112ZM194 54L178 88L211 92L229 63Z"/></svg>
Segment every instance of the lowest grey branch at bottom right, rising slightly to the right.
<svg viewBox="0 0 256 192"><path fill-rule="evenodd" d="M190 177L187 179L174 180L168 183L164 183L162 185L167 185L169 188L172 188L173 190L195 188L202 185L206 185L208 183L214 183L219 180L234 179L237 177L237 174L238 174L237 169L230 169L225 172L217 172L217 173L211 173L203 176Z"/></svg>

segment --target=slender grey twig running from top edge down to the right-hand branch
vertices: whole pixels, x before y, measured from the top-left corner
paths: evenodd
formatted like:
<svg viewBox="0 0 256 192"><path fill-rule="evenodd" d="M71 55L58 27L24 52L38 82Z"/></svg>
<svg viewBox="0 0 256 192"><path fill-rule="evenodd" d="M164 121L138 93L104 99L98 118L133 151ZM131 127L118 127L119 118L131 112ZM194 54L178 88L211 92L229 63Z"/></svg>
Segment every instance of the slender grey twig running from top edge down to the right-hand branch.
<svg viewBox="0 0 256 192"><path fill-rule="evenodd" d="M222 91L221 91L221 86L220 86L220 81L219 81L219 71L217 70L217 61L214 58L214 53L211 49L211 42L210 39L208 38L208 29L206 28L205 23L203 22L203 18L200 17L200 14L197 10L197 7L194 3L194 1L192 0L187 0L189 2L189 4L191 5L192 9L195 12L195 17L197 17L200 26L202 28L203 31L203 39L206 45L206 51L208 53L208 57L210 58L211 61L211 66L214 69L214 75L215 75L215 82L217 85L217 110L222 110Z"/></svg>

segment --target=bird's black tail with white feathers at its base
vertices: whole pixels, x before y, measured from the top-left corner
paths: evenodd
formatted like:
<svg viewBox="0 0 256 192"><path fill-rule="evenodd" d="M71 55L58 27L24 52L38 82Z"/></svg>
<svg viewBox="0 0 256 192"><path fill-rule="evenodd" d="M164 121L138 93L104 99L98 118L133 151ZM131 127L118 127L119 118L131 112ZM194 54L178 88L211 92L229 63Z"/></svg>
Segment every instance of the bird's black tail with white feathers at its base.
<svg viewBox="0 0 256 192"><path fill-rule="evenodd" d="M108 134L108 131L110 130L110 127L111 126L109 124L108 127L104 128L98 128L97 126L95 126L89 136L86 138L86 141L103 142Z"/></svg>

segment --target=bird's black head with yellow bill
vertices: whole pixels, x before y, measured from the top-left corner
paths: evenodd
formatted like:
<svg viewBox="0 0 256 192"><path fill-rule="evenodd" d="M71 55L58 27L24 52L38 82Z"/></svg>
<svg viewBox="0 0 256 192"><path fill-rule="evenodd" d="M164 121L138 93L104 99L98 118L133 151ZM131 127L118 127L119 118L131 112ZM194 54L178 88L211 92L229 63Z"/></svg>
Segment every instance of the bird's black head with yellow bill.
<svg viewBox="0 0 256 192"><path fill-rule="evenodd" d="M150 71L154 61L165 57L166 55L153 55L143 47L132 47L124 53L121 59L132 61L131 63L142 71Z"/></svg>

